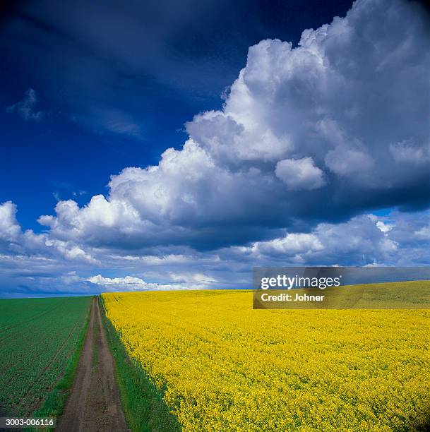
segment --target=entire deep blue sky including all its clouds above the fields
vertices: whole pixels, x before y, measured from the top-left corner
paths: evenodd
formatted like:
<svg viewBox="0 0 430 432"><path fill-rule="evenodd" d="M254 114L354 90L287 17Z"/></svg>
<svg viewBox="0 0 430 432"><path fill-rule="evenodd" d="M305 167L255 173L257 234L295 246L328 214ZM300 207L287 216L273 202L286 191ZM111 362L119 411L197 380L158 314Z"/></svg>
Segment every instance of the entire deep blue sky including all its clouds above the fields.
<svg viewBox="0 0 430 432"><path fill-rule="evenodd" d="M430 263L421 3L38 0L0 23L1 295Z"/></svg>

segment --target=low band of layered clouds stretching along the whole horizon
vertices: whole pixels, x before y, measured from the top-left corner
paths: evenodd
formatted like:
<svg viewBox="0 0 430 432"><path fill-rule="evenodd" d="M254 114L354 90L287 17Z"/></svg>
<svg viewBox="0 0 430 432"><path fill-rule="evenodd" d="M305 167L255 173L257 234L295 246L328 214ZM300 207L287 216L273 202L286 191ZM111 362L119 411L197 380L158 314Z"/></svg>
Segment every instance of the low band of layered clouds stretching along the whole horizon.
<svg viewBox="0 0 430 432"><path fill-rule="evenodd" d="M249 288L256 265L430 265L430 212L362 215L318 224L311 232L196 251L150 246L92 248L23 232L13 203L0 205L0 293ZM148 281L148 282L147 282Z"/></svg>

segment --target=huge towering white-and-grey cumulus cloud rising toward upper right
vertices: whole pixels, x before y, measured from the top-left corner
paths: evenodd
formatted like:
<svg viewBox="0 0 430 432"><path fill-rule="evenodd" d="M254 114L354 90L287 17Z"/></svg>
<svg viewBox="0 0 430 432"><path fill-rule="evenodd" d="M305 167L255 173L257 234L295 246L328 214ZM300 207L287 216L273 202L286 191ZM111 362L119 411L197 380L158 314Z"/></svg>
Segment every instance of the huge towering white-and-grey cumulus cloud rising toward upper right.
<svg viewBox="0 0 430 432"><path fill-rule="evenodd" d="M223 109L186 124L183 148L40 222L92 246L208 249L378 206L425 208L429 29L417 4L359 0L345 18L304 30L298 47L263 40Z"/></svg>

